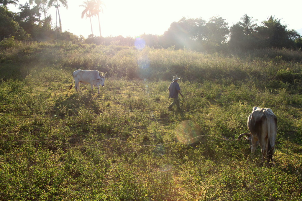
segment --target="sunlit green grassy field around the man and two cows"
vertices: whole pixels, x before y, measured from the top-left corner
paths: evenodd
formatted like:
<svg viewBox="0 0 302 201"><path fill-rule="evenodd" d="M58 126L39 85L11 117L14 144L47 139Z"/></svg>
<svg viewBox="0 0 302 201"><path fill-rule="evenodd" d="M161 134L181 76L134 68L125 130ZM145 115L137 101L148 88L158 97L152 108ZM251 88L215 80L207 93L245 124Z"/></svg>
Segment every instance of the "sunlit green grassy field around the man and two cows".
<svg viewBox="0 0 302 201"><path fill-rule="evenodd" d="M302 200L301 52L1 47L0 200ZM76 69L107 72L100 95L69 91ZM167 109L173 75L182 113ZM278 118L271 168L223 140L254 106Z"/></svg>

